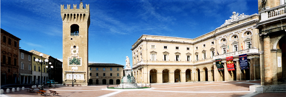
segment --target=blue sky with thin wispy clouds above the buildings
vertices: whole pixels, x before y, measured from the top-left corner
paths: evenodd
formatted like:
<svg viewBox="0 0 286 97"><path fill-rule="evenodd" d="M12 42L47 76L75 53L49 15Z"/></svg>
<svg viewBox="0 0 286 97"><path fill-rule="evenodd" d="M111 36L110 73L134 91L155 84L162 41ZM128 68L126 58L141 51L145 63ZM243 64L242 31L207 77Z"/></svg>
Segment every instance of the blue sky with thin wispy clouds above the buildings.
<svg viewBox="0 0 286 97"><path fill-rule="evenodd" d="M1 28L20 47L62 59L60 5L79 0L1 0ZM125 65L143 35L196 38L220 27L232 12L258 13L258 0L83 0L90 6L89 63ZM132 63L132 60L130 60Z"/></svg>

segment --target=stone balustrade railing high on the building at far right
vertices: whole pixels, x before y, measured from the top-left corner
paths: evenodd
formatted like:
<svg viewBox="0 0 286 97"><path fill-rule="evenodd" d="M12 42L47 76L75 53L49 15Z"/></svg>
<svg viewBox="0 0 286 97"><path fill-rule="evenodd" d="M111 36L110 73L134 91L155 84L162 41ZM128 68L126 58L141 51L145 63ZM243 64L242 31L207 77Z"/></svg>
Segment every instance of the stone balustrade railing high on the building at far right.
<svg viewBox="0 0 286 97"><path fill-rule="evenodd" d="M261 21L266 21L271 18L279 17L279 16L285 16L286 14L286 4L280 5L274 8L266 8L265 10L261 11Z"/></svg>

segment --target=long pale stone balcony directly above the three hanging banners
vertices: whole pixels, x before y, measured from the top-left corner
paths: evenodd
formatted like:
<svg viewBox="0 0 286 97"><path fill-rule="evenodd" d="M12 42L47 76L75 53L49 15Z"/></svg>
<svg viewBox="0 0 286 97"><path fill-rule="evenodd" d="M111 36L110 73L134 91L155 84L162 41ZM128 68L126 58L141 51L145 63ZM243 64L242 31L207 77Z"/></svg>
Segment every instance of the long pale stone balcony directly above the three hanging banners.
<svg viewBox="0 0 286 97"><path fill-rule="evenodd" d="M240 51L236 51L236 52L229 52L229 53L225 53L225 54L215 55L213 57L213 60L224 59L224 58L229 57L229 56L238 56L238 55L242 55L242 54L251 54L251 53L259 54L258 49L251 48L251 49L240 50Z"/></svg>

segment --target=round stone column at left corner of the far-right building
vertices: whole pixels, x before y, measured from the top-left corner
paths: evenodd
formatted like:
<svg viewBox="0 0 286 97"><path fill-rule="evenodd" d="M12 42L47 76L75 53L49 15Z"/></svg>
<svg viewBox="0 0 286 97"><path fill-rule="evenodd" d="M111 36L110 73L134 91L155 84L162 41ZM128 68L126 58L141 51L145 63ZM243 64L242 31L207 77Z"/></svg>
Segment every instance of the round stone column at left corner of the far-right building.
<svg viewBox="0 0 286 97"><path fill-rule="evenodd" d="M264 36L263 38L263 51L264 51L264 84L273 85L271 55L270 55L270 37ZM263 71L262 71L263 72Z"/></svg>

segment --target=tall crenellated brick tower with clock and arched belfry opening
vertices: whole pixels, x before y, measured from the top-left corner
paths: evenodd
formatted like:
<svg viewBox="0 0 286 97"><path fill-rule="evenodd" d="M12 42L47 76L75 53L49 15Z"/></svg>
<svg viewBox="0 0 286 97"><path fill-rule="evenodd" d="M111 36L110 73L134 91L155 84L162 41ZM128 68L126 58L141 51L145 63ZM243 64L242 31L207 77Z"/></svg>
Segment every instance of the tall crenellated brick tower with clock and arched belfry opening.
<svg viewBox="0 0 286 97"><path fill-rule="evenodd" d="M63 20L63 84L88 85L89 5L61 5ZM73 79L73 80L72 80Z"/></svg>

